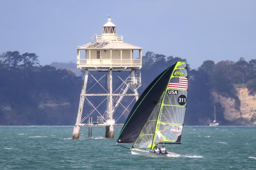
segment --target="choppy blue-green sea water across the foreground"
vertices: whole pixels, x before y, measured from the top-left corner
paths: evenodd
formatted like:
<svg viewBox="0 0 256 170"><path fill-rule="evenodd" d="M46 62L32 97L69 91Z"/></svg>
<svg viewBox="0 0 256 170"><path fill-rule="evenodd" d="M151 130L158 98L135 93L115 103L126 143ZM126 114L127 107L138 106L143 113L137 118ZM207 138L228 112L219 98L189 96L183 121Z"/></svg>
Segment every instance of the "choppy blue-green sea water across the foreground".
<svg viewBox="0 0 256 170"><path fill-rule="evenodd" d="M256 127L184 126L180 145L168 151L194 158L132 155L105 138L105 127L0 126L0 169L256 169Z"/></svg>

